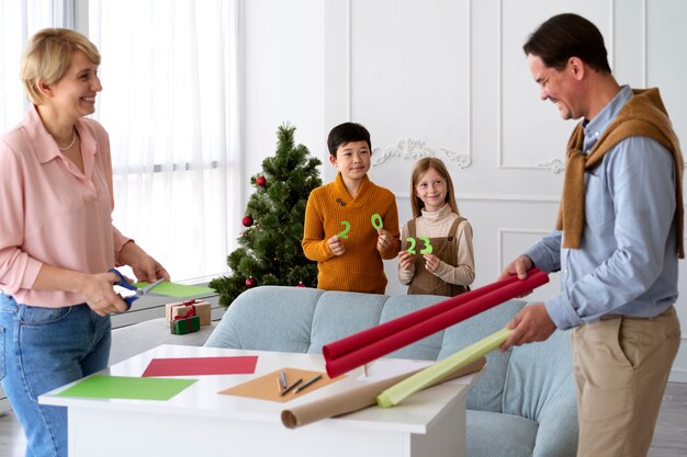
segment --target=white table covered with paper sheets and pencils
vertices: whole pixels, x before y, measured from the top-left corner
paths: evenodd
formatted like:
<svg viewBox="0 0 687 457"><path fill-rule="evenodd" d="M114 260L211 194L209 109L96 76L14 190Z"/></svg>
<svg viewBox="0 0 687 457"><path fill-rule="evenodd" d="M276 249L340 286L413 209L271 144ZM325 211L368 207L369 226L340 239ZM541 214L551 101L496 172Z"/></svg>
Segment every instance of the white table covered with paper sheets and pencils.
<svg viewBox="0 0 687 457"><path fill-rule="evenodd" d="M361 370L288 403L217 392L281 367L324 372L322 355L161 345L99 374L140 376L153 358L232 355L258 355L256 373L198 376L169 401L56 396L71 385L38 401L68 408L70 457L465 455L465 395L478 375L424 390L395 408L371 407L289 430L281 423L283 409L346 389Z"/></svg>

